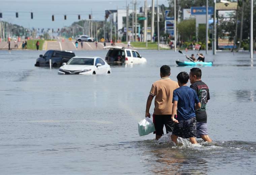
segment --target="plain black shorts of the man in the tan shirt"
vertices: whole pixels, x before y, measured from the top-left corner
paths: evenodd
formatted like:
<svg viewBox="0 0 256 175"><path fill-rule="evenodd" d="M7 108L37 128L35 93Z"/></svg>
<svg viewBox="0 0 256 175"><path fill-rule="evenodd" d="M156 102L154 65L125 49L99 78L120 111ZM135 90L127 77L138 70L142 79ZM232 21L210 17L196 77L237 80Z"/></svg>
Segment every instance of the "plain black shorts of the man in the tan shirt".
<svg viewBox="0 0 256 175"><path fill-rule="evenodd" d="M165 126L166 133L171 133L174 128L174 122L171 119L171 115L156 115L153 114L153 123L156 131L154 134L158 136L164 135L163 128Z"/></svg>

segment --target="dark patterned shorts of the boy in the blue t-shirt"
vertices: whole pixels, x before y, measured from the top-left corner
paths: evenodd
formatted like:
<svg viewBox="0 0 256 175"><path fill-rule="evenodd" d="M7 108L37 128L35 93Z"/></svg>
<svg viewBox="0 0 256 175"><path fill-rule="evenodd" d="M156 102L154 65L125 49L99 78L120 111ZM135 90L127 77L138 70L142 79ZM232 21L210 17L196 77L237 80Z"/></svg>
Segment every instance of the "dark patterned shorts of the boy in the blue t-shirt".
<svg viewBox="0 0 256 175"><path fill-rule="evenodd" d="M172 134L184 139L196 137L196 117L179 120L179 123L175 124Z"/></svg>

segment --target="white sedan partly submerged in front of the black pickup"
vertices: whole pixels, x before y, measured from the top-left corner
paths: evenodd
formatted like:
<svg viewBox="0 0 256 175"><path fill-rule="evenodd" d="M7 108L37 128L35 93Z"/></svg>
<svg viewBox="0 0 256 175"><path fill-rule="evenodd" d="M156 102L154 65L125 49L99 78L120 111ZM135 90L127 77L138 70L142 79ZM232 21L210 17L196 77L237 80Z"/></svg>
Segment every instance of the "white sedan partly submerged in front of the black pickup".
<svg viewBox="0 0 256 175"><path fill-rule="evenodd" d="M100 57L73 57L63 63L58 74L107 74L111 72L110 66Z"/></svg>

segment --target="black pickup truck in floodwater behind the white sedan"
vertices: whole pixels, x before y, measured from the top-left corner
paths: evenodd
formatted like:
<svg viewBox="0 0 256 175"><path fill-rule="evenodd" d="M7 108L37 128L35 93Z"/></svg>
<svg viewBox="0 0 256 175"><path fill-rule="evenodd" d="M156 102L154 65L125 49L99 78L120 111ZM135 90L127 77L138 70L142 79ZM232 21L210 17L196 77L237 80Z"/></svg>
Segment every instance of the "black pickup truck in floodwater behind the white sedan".
<svg viewBox="0 0 256 175"><path fill-rule="evenodd" d="M62 63L68 62L71 58L73 58L75 54L71 51L60 51L60 50L48 50L43 55L39 55L39 58L36 59L35 66L49 66L50 67L50 59L52 60L53 67L60 67Z"/></svg>

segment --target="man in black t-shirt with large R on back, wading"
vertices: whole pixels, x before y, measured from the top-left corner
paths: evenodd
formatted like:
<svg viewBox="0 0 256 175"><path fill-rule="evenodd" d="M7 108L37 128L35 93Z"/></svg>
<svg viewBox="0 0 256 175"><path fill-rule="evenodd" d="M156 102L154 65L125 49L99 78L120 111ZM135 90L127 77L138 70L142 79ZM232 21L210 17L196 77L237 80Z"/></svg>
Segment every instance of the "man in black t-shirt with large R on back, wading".
<svg viewBox="0 0 256 175"><path fill-rule="evenodd" d="M210 93L208 86L204 82L202 82L201 76L201 69L190 69L190 88L196 91L199 101L201 103L200 109L196 110L196 134L197 138L202 138L204 141L212 142L212 139L208 136L206 114L206 103L208 102L208 100L210 100Z"/></svg>

